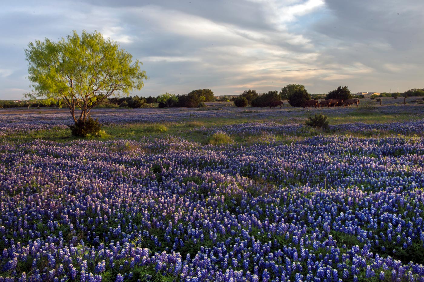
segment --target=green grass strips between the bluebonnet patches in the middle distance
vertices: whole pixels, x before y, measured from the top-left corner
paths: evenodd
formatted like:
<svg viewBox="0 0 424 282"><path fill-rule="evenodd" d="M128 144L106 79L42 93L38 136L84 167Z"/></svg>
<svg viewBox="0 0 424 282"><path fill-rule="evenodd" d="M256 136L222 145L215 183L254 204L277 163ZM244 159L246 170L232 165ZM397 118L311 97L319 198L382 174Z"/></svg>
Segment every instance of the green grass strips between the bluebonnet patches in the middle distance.
<svg viewBox="0 0 424 282"><path fill-rule="evenodd" d="M384 106L382 106L384 107ZM419 108L413 107L409 109L403 106L399 106L399 111L394 113L384 113L379 111L382 109L379 105L372 103L363 103L359 108L349 109L329 109L324 113L328 117L330 124L343 124L351 122L363 122L363 123L387 123L387 122L404 122L413 121L416 119L422 119L422 115L418 114ZM154 111L161 111L162 109L154 109ZM187 109L182 109L188 111ZM220 111L220 108L209 107L209 111ZM105 110L106 111L106 110ZM119 109L117 109L119 111ZM273 137L263 135L251 135L243 136L232 135L231 140L222 137L218 138L215 136L211 138L210 133L207 132L208 128L220 127L224 125L240 124L248 122L276 122L280 124L289 124L297 122L302 124L307 116L311 113L322 113L321 109L312 109L305 111L301 108L287 108L287 113L290 111L290 117L285 116L284 112L276 114L275 116L267 117L266 119L257 115L266 111L266 109L247 109L242 112L236 112L234 115L227 117L215 117L215 118L204 118L198 120L196 115L197 110L193 111L193 115L190 116L185 122L165 122L163 124L158 123L131 123L131 124L119 124L119 125L108 125L102 127L102 133L98 136L88 136L89 139L100 139L100 140L115 140L115 139L128 139L128 140L139 140L145 136L153 138L162 138L168 136L179 136L180 138L195 141L199 144L226 144L228 142L236 141L240 144L253 144L255 142L270 142L275 141L290 144L292 142L304 140L314 135L321 134L342 134L342 135L353 135L357 137L382 137L391 135L390 132L372 132L372 133L338 133L338 132L323 132L320 130L310 130L307 133L297 133L289 135L276 135ZM6 115L7 116L7 115ZM199 130L201 127L206 128L205 130ZM103 132L104 131L104 132ZM30 132L17 132L11 133L5 136L0 136L0 141L14 141L18 143L30 142L36 139L44 139L56 142L67 142L77 140L71 135L68 128L53 127L51 130L38 130ZM215 140L216 139L216 140Z"/></svg>

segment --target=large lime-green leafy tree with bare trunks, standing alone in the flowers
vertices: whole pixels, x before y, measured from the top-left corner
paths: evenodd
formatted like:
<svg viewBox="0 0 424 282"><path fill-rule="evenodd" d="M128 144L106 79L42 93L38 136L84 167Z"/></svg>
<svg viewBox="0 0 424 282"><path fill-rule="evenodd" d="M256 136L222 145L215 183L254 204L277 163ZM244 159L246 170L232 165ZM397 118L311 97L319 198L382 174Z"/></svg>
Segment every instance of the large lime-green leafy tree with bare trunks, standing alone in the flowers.
<svg viewBox="0 0 424 282"><path fill-rule="evenodd" d="M74 30L58 42L47 38L30 42L25 55L34 89L28 97L61 99L75 125L103 100L140 90L143 79L148 79L140 70L141 62L133 62L131 54L97 31L84 30L79 36Z"/></svg>

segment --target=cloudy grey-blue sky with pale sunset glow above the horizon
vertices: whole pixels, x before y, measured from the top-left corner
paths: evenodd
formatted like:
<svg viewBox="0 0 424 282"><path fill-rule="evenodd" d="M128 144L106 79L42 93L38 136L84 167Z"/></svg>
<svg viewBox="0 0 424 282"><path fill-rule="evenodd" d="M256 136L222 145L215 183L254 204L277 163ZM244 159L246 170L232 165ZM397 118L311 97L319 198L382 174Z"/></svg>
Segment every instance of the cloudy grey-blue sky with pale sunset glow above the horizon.
<svg viewBox="0 0 424 282"><path fill-rule="evenodd" d="M14 0L0 3L0 99L30 92L25 48L97 30L143 63L132 95L424 87L423 0Z"/></svg>

